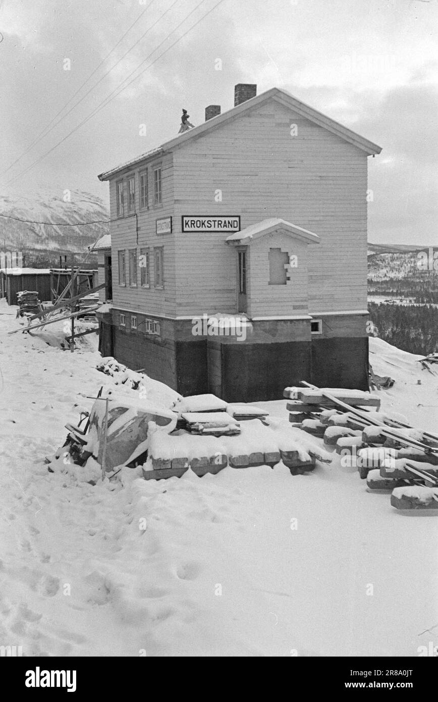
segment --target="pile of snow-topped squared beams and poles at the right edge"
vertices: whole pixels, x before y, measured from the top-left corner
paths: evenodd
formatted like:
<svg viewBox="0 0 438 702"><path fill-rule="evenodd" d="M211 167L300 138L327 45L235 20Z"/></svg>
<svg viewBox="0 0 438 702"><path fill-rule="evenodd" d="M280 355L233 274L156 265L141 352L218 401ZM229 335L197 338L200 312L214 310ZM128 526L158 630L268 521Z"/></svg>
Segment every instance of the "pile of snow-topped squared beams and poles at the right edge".
<svg viewBox="0 0 438 702"><path fill-rule="evenodd" d="M301 393L286 388L286 397ZM347 392L347 391L345 391ZM352 391L348 391L352 392ZM356 391L354 391L356 392ZM391 492L391 505L399 510L438 509L438 435L409 426L406 418L379 411L373 396L354 395L350 402L340 390L312 388L320 404L317 419L307 418L300 428L317 433L327 446L335 446L344 468L357 468L368 490ZM309 403L309 395L298 395ZM295 407L295 405L294 405ZM364 409L360 409L364 408Z"/></svg>

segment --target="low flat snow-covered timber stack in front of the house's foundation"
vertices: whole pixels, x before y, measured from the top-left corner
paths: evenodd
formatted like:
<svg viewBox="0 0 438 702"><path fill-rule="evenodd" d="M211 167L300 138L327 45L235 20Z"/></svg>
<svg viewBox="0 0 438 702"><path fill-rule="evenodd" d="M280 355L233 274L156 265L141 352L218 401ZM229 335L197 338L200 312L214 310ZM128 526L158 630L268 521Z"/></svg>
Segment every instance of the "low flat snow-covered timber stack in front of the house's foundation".
<svg viewBox="0 0 438 702"><path fill-rule="evenodd" d="M255 406L194 395L178 399L173 411L178 412L176 429L170 434L152 433L145 479L180 477L189 468L199 476L227 465L274 468L280 461L297 475L314 470L317 459L331 462L331 456L310 438L298 441L287 426Z"/></svg>

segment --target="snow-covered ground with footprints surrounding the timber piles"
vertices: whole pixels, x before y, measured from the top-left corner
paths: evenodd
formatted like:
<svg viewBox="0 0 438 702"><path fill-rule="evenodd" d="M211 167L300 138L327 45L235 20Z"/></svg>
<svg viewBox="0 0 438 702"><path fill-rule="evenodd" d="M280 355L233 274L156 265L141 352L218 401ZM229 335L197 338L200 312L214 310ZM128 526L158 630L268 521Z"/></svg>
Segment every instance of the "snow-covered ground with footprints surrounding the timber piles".
<svg viewBox="0 0 438 702"><path fill-rule="evenodd" d="M94 336L74 354L57 324L8 336L20 322L0 303L0 645L25 656L416 656L437 644L437 520L397 512L338 458L296 477L278 465L156 482L124 469L92 486L80 468L49 473L65 423L114 379L95 370ZM383 409L437 431L438 376L370 345L375 373L396 380ZM148 400L175 397L148 383ZM284 400L258 404L286 417Z"/></svg>

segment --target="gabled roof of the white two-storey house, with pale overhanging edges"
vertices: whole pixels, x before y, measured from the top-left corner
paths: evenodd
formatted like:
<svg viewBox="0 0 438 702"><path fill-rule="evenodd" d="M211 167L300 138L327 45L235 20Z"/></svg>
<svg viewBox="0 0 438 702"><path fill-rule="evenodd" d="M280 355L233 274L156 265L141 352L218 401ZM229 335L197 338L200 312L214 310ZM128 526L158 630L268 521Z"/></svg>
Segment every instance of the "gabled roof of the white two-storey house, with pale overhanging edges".
<svg viewBox="0 0 438 702"><path fill-rule="evenodd" d="M145 161L146 159L150 159L164 152L173 151L175 148L185 144L186 141L204 135L211 129L218 128L218 126L224 124L228 120L238 117L247 110L253 110L254 107L258 107L259 105L262 105L263 102L267 102L267 100L271 99L277 100L277 102L284 107L288 107L288 109L293 110L293 112L300 114L301 117L305 117L305 119L309 119L314 124L327 129L333 134L336 134L338 137L344 139L350 144L353 144L369 156L371 156L371 154L380 154L382 150L381 146L374 144L368 139L365 139L363 136L343 126L343 124L331 119L331 117L327 117L326 114L318 112L318 110L314 110L313 107L306 105L305 102L301 102L301 100L298 100L298 98L294 98L291 93L283 90L283 88L270 88L270 90L266 91L265 93L260 93L260 95L256 95L255 98L245 100L245 102L241 102L241 104L237 105L237 107L232 107L231 110L218 114L217 117L212 117L211 119L208 119L208 121L177 135L175 138L166 141L160 147L157 147L157 149L141 154L141 156L131 161L126 161L126 163L116 166L116 168L112 168L110 171L100 173L98 178L99 180L108 180L114 175L114 173L122 171L124 168L130 168L131 166L135 166L135 164L140 163L140 161Z"/></svg>

